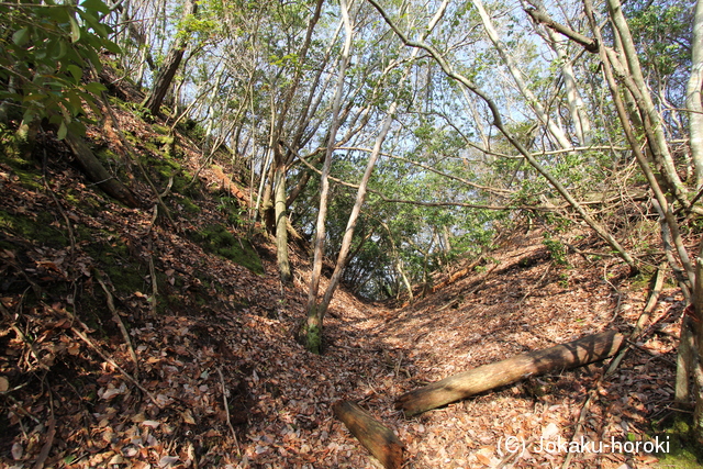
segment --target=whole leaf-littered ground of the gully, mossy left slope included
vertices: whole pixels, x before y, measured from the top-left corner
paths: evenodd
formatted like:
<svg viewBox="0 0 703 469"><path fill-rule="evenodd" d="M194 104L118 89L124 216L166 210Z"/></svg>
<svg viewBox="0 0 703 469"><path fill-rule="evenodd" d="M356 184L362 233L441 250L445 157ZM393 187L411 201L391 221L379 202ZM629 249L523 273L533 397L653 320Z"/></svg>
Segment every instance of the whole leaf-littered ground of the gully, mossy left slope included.
<svg viewBox="0 0 703 469"><path fill-rule="evenodd" d="M0 465L372 467L332 415L341 399L398 433L409 468L658 460L535 445L577 428L609 444L656 436L673 399L676 290L662 292L655 325L611 378L596 364L405 418L394 399L424 382L606 328L628 333L646 279L633 283L614 258L557 258L539 232L517 233L403 309L339 291L325 354L311 355L294 339L305 254L293 253L295 281L282 288L269 236L243 216L237 169L207 161L192 127L171 132L122 101L113 108L116 121L89 129L88 142L142 208L103 194L48 133L31 158L0 158ZM510 453L509 437L526 449Z"/></svg>

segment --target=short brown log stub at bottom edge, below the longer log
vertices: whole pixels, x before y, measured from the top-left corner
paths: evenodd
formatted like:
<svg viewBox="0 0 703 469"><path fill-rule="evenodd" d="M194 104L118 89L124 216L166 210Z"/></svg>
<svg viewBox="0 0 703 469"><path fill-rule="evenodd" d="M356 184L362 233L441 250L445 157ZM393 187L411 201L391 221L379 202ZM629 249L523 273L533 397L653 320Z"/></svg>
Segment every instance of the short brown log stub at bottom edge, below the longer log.
<svg viewBox="0 0 703 469"><path fill-rule="evenodd" d="M338 401L332 410L349 432L379 460L386 469L400 469L403 465L403 444L392 429L373 418L359 405Z"/></svg>

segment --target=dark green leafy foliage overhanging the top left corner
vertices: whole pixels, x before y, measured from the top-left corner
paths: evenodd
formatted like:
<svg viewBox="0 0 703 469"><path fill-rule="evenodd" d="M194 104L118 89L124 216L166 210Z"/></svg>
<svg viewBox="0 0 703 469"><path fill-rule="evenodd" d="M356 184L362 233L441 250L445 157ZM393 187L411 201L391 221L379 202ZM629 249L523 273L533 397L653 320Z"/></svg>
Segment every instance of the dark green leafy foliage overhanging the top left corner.
<svg viewBox="0 0 703 469"><path fill-rule="evenodd" d="M83 102L100 114L92 93L105 88L86 70L100 70L101 49L120 53L100 22L108 12L102 0L0 3L0 100L14 104L24 125L47 119L63 138L83 132Z"/></svg>

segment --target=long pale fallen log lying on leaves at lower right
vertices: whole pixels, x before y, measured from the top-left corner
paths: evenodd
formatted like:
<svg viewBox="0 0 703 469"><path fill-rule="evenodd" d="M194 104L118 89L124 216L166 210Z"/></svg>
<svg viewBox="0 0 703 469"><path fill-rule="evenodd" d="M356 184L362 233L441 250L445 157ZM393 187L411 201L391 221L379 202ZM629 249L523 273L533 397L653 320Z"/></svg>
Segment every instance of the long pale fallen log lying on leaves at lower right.
<svg viewBox="0 0 703 469"><path fill-rule="evenodd" d="M624 340L622 334L609 331L516 355L406 392L398 398L395 409L402 410L405 415L416 415L528 376L581 367L615 355Z"/></svg>

